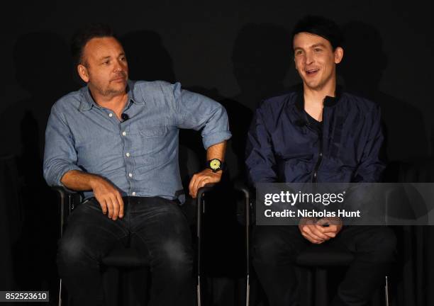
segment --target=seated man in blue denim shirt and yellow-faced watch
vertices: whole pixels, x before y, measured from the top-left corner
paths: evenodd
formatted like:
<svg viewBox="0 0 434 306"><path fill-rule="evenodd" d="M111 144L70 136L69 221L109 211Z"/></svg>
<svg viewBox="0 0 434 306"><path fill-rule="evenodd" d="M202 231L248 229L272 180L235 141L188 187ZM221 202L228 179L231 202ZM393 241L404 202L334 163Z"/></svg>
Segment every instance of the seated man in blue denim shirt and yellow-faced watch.
<svg viewBox="0 0 434 306"><path fill-rule="evenodd" d="M128 81L123 47L106 26L77 33L72 50L87 86L52 106L44 176L89 200L74 210L60 239L60 276L74 305L100 305L101 258L135 234L150 256L150 305L191 305L191 237L177 205L178 133L201 130L206 148L209 169L189 184L195 198L201 186L221 179L226 111L179 83Z"/></svg>

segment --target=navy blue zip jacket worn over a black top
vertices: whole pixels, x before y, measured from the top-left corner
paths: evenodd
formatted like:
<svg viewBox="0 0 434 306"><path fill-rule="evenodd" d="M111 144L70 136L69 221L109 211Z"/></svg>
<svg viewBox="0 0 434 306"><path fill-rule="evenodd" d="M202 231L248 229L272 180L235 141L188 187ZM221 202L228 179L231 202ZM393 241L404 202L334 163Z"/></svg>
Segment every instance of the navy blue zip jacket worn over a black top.
<svg viewBox="0 0 434 306"><path fill-rule="evenodd" d="M246 164L256 183L376 182L383 134L377 104L351 94L326 97L323 130L304 111L302 91L269 98L247 136Z"/></svg>

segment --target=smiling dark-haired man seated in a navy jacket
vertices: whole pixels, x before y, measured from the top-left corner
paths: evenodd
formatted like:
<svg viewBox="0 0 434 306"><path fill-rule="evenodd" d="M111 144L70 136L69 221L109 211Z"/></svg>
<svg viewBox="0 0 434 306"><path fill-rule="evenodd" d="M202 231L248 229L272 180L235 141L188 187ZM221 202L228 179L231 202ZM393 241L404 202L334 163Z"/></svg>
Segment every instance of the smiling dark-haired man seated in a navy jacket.
<svg viewBox="0 0 434 306"><path fill-rule="evenodd" d="M296 24L292 38L303 86L257 109L247 138L250 181L380 181L379 107L336 86L336 65L344 55L340 29L328 19L307 16ZM255 227L253 265L271 306L297 305L294 259L309 244L323 243L355 254L333 305L366 305L384 281L396 238L386 227L343 227L339 218L302 218L298 227Z"/></svg>

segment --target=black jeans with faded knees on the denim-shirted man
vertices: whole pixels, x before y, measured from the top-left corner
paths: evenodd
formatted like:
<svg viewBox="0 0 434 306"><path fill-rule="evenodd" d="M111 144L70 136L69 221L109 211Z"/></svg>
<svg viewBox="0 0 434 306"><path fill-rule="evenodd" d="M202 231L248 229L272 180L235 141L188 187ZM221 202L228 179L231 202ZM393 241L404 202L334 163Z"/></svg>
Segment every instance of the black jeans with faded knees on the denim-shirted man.
<svg viewBox="0 0 434 306"><path fill-rule="evenodd" d="M130 234L138 238L138 250L150 254L149 305L194 305L191 233L179 205L156 197L123 200L122 219L109 219L92 199L67 220L57 267L74 305L102 304L101 259Z"/></svg>

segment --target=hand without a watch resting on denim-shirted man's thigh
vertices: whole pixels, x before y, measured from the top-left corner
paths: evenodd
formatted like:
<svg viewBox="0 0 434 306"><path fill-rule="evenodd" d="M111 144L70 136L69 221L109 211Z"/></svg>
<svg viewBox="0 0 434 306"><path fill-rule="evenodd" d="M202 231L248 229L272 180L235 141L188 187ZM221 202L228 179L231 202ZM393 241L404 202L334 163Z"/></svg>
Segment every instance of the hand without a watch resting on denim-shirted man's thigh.
<svg viewBox="0 0 434 306"><path fill-rule="evenodd" d="M112 220L123 217L123 200L116 187L99 176L95 176L90 185L104 215L109 211L108 217Z"/></svg>

